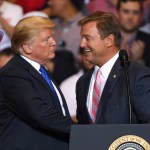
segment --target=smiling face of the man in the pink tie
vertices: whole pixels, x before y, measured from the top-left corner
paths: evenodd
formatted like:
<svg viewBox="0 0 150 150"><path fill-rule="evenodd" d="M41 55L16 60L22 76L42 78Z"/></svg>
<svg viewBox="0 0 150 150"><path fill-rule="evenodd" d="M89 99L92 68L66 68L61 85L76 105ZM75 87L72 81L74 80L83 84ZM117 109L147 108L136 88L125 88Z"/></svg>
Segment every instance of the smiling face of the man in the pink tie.
<svg viewBox="0 0 150 150"><path fill-rule="evenodd" d="M81 27L80 46L86 53L86 60L93 64L101 64L107 54L106 38L101 39L97 22L89 22Z"/></svg>

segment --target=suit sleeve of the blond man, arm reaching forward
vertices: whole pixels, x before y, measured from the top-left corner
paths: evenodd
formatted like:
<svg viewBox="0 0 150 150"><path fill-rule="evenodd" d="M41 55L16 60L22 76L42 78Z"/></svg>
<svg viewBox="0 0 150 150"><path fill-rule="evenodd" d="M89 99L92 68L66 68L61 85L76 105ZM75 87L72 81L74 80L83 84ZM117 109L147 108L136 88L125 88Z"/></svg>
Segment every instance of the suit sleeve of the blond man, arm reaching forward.
<svg viewBox="0 0 150 150"><path fill-rule="evenodd" d="M6 105L20 119L32 127L69 133L70 116L49 105L27 77L5 76L1 85Z"/></svg>

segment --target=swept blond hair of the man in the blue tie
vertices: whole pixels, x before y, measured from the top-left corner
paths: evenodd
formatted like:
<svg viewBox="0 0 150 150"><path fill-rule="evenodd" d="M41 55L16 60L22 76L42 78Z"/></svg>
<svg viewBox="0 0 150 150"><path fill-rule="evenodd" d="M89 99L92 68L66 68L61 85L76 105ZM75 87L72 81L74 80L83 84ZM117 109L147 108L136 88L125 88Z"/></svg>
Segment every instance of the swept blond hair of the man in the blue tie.
<svg viewBox="0 0 150 150"><path fill-rule="evenodd" d="M33 37L43 29L52 29L55 23L49 18L33 16L27 17L18 22L14 28L11 39L12 51L14 54L20 54L23 44L32 41Z"/></svg>

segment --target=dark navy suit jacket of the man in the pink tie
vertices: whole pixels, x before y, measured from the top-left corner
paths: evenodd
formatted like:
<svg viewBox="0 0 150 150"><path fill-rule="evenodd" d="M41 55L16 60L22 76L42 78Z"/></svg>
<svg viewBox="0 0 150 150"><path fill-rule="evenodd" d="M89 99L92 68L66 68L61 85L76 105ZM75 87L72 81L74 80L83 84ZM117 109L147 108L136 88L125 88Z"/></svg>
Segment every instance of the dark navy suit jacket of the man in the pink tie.
<svg viewBox="0 0 150 150"><path fill-rule="evenodd" d="M76 86L77 119L81 124L90 124L86 102L94 68L80 77ZM150 69L136 63L128 68L132 123L150 121ZM128 124L129 105L124 69L118 59L105 84L96 117L96 124Z"/></svg>

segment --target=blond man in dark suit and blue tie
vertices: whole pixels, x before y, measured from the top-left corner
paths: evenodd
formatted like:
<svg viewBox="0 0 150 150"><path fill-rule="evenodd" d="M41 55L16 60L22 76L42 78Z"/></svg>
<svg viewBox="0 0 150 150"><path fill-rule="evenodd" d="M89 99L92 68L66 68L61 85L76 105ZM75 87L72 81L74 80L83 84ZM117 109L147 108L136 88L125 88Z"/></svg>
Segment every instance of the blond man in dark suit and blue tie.
<svg viewBox="0 0 150 150"><path fill-rule="evenodd" d="M48 18L27 17L15 27L12 58L0 72L0 149L67 150L70 126L62 92L43 67L55 57Z"/></svg>

